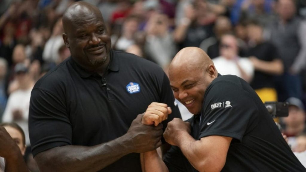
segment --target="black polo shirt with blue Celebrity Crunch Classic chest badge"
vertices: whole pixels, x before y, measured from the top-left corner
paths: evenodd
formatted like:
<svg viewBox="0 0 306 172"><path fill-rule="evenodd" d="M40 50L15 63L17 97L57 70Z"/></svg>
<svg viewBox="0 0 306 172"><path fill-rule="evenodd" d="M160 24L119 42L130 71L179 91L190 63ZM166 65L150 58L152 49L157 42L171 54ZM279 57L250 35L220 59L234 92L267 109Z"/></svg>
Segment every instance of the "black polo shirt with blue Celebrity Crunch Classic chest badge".
<svg viewBox="0 0 306 172"><path fill-rule="evenodd" d="M166 103L181 118L169 80L156 64L113 51L106 74L84 71L68 58L35 84L30 100L32 153L65 145L93 146L127 133L132 120L152 102ZM101 171L141 171L137 153Z"/></svg>

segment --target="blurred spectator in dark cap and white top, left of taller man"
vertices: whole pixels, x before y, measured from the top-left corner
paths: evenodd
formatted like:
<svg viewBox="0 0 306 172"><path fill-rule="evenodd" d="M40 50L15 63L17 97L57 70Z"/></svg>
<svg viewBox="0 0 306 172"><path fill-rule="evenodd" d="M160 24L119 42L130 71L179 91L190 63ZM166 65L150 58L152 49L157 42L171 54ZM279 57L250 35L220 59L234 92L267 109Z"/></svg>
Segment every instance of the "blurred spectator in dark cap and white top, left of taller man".
<svg viewBox="0 0 306 172"><path fill-rule="evenodd" d="M14 72L19 88L9 95L2 122L16 122L20 125L26 136L26 145L30 145L28 113L34 81L28 73L28 68L23 63L18 63Z"/></svg>

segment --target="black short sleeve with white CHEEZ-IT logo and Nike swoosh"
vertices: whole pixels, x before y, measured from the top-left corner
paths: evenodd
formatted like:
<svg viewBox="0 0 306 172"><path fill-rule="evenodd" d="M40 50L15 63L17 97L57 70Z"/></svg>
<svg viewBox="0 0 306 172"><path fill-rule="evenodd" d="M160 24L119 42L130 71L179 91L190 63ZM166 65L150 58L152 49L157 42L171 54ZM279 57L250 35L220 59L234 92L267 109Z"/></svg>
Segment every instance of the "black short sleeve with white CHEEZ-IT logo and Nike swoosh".
<svg viewBox="0 0 306 172"><path fill-rule="evenodd" d="M206 92L199 139L218 135L241 142L244 133L254 126L257 119L258 110L250 93L237 83L223 80L211 84Z"/></svg>

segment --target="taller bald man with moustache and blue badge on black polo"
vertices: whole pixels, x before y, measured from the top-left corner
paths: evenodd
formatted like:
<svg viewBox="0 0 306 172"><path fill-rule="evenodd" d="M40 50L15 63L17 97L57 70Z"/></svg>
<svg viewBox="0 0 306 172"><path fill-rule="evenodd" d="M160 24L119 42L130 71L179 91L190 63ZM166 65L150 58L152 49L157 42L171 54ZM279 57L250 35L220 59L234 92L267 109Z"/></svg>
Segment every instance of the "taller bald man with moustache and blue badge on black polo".
<svg viewBox="0 0 306 172"><path fill-rule="evenodd" d="M168 77L147 60L111 50L95 6L73 3L63 26L71 57L42 77L31 94L34 159L42 171L140 172L139 153L161 146L162 129L181 116ZM149 126L137 116L145 111L172 113L163 125Z"/></svg>

